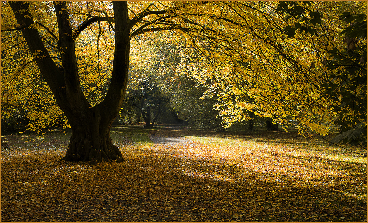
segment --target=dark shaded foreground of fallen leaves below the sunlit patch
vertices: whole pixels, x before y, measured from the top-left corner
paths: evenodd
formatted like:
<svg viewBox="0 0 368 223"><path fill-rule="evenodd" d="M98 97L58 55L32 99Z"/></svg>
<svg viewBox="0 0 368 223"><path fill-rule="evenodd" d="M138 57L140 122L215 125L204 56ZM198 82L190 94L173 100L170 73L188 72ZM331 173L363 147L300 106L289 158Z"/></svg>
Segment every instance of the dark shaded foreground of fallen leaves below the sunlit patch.
<svg viewBox="0 0 368 223"><path fill-rule="evenodd" d="M33 216L34 221L49 221L52 217L66 222L365 219L366 198L350 194L350 184L339 184L338 190L335 184L327 184L337 178L326 176L321 179L326 184L316 187L293 182L287 175L230 165L228 160L177 155L177 151L171 155L157 151L125 164L94 166L47 159L43 163L18 163L16 170L10 164L3 165L2 180L6 184L1 186L17 187L8 188L2 195L6 201L13 201L2 205L2 221L25 220L22 216ZM276 177L284 181L270 180ZM24 207L27 197L34 202ZM17 207L18 202L21 205Z"/></svg>

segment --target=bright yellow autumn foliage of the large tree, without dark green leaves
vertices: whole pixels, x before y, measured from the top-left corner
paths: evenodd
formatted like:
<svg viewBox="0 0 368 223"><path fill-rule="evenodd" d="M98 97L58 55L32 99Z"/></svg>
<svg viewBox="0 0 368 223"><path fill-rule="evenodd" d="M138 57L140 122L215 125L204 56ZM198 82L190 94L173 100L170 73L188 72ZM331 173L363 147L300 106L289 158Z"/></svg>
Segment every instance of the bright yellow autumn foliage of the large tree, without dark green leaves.
<svg viewBox="0 0 368 223"><path fill-rule="evenodd" d="M29 4L35 22L44 26L35 24L32 28L38 29L50 56L61 66L59 58L63 50L56 47L54 37L59 34L53 5L41 1ZM287 119L296 119L301 127L323 135L336 114L331 112L329 101L317 100L320 86L326 80L322 59L332 46L344 48L339 35L344 24L338 15L346 10L363 10L366 3L316 1L311 8L325 15L323 31L319 36L301 34L295 38L287 38L283 30L296 20L285 22L286 15L275 11L277 4L276 1L130 1L128 13L133 22L130 66L153 70L149 61L155 56L152 52L159 50L158 43L174 43L180 50L170 53L180 55L181 62L160 72L173 71L172 78L187 75L198 86L204 86L207 89L204 97L217 99L215 109L224 125L249 120L248 112L254 112L272 117L282 125L288 125ZM1 27L17 28L7 2L1 2L1 10ZM114 16L112 3L105 1L68 1L63 10L70 14L74 30L90 17ZM89 25L75 43L81 88L92 106L103 100L110 84L114 31L109 22ZM39 80L33 80L38 69L32 60L37 55L29 53L21 32L1 32L1 38L4 95L1 117L13 115L16 107L25 107L32 120L50 113L39 119L44 127L52 123L46 119L62 119L62 112L42 77L38 75ZM132 79L130 87L138 88L134 84L137 81ZM53 101L52 105L48 100ZM36 102L48 106L47 109L29 105ZM32 121L31 125L36 123Z"/></svg>

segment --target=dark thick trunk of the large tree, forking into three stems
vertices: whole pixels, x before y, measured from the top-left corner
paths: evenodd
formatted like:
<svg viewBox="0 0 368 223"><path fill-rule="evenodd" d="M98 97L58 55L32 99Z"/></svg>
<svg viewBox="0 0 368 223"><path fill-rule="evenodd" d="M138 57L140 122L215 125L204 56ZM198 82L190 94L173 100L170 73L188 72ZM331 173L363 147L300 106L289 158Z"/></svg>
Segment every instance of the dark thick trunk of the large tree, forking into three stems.
<svg viewBox="0 0 368 223"><path fill-rule="evenodd" d="M79 82L75 56L78 32L72 30L68 11L65 10L66 2L53 3L59 28L58 49L62 67L57 67L51 59L37 29L26 27L21 31L41 74L71 126L70 144L63 160L90 160L92 163L111 159L124 161L118 147L111 142L110 128L123 104L128 81L130 20L127 1L113 1L116 34L111 83L104 100L93 107L86 100ZM9 4L21 27L33 24L28 3L10 1Z"/></svg>

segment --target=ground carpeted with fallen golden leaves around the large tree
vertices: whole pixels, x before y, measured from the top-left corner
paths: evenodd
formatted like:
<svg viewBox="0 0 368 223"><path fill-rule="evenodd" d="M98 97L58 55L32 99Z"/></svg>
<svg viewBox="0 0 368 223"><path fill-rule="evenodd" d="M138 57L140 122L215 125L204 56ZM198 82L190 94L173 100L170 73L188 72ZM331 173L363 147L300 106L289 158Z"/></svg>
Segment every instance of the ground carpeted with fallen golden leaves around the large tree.
<svg viewBox="0 0 368 223"><path fill-rule="evenodd" d="M54 136L5 136L1 222L367 222L367 163L296 133L114 127L97 165Z"/></svg>

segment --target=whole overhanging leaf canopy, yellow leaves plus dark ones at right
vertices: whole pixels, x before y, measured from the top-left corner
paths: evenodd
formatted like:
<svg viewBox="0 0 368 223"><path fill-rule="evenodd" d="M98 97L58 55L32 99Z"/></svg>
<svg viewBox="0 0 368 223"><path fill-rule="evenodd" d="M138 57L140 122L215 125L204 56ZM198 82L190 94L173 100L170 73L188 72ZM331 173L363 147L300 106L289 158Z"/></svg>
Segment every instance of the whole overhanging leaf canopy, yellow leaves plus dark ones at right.
<svg viewBox="0 0 368 223"><path fill-rule="evenodd" d="M78 35L76 43L81 86L93 105L102 100L110 82L114 44L113 20L109 17L113 15L112 4L96 1L67 4L75 32L86 19L106 18L91 23ZM34 26L44 36L50 56L60 63L60 50L53 34L57 33L53 5L32 2L30 6L37 15ZM364 104L364 100L353 100L354 106L346 101L351 94L354 98L365 97L364 83L358 87L354 83L366 79L366 69L365 73L364 69L360 72L341 57L346 49L342 34L356 36L357 47L352 49L351 41L347 41L346 55L358 67L366 65L366 58L358 55L364 54L367 38L356 31L365 24L366 7L364 1L133 1L129 3L131 61L151 69L152 65L142 63L139 58L138 45L147 47L144 42L148 39L158 43L156 47L163 41L175 43L178 56L169 60L172 66L168 76L188 76L204 87L203 96L216 100L214 108L225 127L250 120L249 114L255 114L272 118L284 127L290 119L297 120L300 133L309 136L326 135L335 125L343 126L335 120L348 125L342 127L346 131L358 125L366 128L363 117L367 116L367 109L354 104ZM7 49L1 52L4 61L1 91L5 95L1 98L2 118L15 115L22 107L31 129L56 125L56 122L67 126L20 31L14 27L7 2L1 2L1 8L4 18L1 27L7 30L1 33L1 47ZM355 71L349 67L355 67ZM346 72L352 76L346 76ZM331 81L333 75L338 78ZM343 77L351 81L344 84ZM343 98L333 95L345 93L350 94ZM322 94L327 97L320 97ZM41 108L42 104L48 106ZM343 129L340 130L344 132ZM364 142L363 130L354 130L343 137Z"/></svg>

